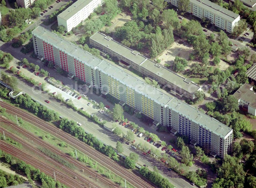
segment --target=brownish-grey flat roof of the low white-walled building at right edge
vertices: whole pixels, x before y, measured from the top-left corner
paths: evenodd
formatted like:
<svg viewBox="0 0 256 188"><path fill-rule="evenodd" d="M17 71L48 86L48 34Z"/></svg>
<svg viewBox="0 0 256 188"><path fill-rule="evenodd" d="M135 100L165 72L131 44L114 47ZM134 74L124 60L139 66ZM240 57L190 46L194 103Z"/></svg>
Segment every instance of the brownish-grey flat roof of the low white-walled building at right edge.
<svg viewBox="0 0 256 188"><path fill-rule="evenodd" d="M249 102L249 106L256 108L256 92L251 90L252 87L252 85L245 83L233 95L236 99L241 98Z"/></svg>

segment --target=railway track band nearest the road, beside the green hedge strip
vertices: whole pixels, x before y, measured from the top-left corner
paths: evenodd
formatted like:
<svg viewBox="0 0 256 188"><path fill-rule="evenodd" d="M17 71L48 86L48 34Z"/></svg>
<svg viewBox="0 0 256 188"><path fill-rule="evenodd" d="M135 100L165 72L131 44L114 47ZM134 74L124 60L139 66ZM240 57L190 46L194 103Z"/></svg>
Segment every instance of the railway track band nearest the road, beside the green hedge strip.
<svg viewBox="0 0 256 188"><path fill-rule="evenodd" d="M15 114L26 121L29 121L33 125L39 127L46 132L55 135L56 137L60 138L61 140L67 142L69 145L77 148L81 152L88 155L90 158L94 159L101 165L105 166L106 168L110 169L112 172L116 173L117 175L121 176L122 178L126 179L130 184L135 187L139 188L152 188L156 187L150 182L142 179L140 176L133 174L130 171L127 171L123 166L119 165L118 163L112 161L104 154L100 153L99 151L91 148L86 143L78 140L77 138L69 135L68 133L58 129L55 126L52 126L50 123L43 121L42 119L31 115L27 112L24 112L22 109L14 107L4 102L0 102L0 106L6 108L8 113Z"/></svg>

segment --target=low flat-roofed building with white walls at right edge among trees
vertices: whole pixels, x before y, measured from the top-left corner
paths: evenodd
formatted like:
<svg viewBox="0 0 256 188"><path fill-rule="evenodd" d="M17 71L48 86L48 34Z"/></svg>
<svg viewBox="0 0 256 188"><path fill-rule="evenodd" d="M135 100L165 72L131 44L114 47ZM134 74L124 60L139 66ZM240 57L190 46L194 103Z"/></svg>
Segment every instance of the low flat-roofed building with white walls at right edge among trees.
<svg viewBox="0 0 256 188"><path fill-rule="evenodd" d="M238 105L247 109L249 114L256 116L256 92L253 91L253 86L243 84L234 94L238 99Z"/></svg>

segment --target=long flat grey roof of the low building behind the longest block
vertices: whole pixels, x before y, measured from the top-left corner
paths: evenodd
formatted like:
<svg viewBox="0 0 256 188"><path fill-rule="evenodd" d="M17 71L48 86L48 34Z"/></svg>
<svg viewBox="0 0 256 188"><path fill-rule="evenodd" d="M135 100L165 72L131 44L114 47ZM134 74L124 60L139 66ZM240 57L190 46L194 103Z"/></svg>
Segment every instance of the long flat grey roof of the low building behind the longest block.
<svg viewBox="0 0 256 188"><path fill-rule="evenodd" d="M186 79L169 69L163 67L162 65L158 66L157 63L147 59L146 57L142 56L139 52L127 48L126 46L120 44L119 42L112 39L110 36L106 36L100 32L93 34L90 39L94 40L95 42L100 43L104 47L118 53L119 55L131 60L132 62L140 65L141 67L147 69L150 72L155 73L159 77L162 77L166 81L173 83L188 91L189 93L194 93L197 91L200 86L197 84L189 81L187 82Z"/></svg>

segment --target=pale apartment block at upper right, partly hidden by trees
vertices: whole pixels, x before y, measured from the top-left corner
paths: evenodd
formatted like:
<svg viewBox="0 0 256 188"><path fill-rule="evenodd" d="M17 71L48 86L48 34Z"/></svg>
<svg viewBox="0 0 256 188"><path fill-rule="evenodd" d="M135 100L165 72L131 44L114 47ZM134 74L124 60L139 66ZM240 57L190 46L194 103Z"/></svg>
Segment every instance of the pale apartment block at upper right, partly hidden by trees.
<svg viewBox="0 0 256 188"><path fill-rule="evenodd" d="M178 7L178 0L166 0ZM238 14L208 0L189 0L189 13L198 18L208 18L215 26L231 33L240 20Z"/></svg>

